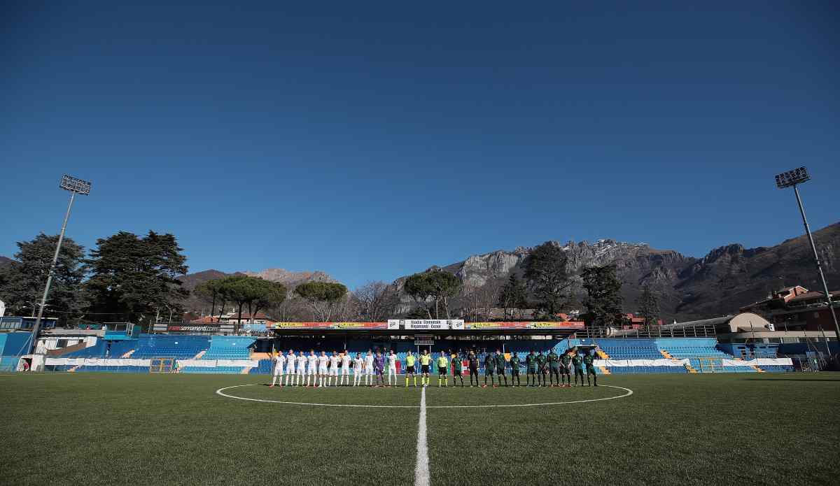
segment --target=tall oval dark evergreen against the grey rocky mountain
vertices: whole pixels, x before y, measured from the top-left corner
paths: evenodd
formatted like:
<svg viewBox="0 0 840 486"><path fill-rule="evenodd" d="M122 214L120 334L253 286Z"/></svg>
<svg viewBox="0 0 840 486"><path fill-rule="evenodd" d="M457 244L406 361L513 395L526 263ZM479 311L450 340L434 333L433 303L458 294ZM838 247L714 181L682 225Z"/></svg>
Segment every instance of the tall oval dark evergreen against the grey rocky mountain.
<svg viewBox="0 0 840 486"><path fill-rule="evenodd" d="M557 321L569 298L566 292L571 285L563 249L551 242L533 248L525 260L525 279L536 298L538 317Z"/></svg>

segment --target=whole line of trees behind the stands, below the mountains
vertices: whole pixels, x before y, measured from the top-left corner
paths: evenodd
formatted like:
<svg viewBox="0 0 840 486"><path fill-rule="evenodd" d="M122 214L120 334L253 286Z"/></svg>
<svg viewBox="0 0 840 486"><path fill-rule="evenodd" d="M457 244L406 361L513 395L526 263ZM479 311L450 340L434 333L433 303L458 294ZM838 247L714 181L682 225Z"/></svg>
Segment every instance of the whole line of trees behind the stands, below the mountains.
<svg viewBox="0 0 840 486"><path fill-rule="evenodd" d="M39 234L19 242L11 264L0 268L0 299L9 314L31 315L44 291L57 235ZM175 236L150 231L144 236L119 232L97 239L86 256L85 248L65 238L56 264L46 316L59 316L62 324L86 321L150 323L159 313L180 317L189 291L179 278L186 274L186 256ZM503 320L556 321L561 313L585 308L580 317L589 325L616 326L622 322L622 282L615 265L593 266L580 275L568 272L563 248L543 243L528 254L521 274L491 279L483 285L462 282L442 269L412 274L399 285L373 281L350 292L334 282L310 281L287 289L257 277L234 274L203 282L192 291L207 304L210 316L234 311L237 326L242 316L268 313L276 321L384 321L390 317L490 320L501 308ZM582 281L584 300L571 292ZM659 302L645 285L637 301L646 325L658 320ZM526 312L526 310L533 310ZM528 313L528 315L526 315Z"/></svg>

